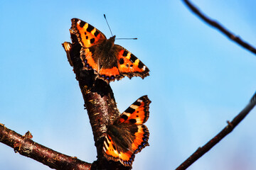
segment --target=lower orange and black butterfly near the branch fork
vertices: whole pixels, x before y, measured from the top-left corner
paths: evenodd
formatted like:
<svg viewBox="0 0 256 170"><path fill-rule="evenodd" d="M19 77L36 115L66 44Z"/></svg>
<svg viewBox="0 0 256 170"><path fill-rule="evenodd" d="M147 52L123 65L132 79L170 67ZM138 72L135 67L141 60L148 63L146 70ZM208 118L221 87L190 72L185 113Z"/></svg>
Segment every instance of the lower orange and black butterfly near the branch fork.
<svg viewBox="0 0 256 170"><path fill-rule="evenodd" d="M103 154L108 160L132 166L135 154L149 146L149 130L144 125L149 118L149 103L149 98L142 96L107 127Z"/></svg>

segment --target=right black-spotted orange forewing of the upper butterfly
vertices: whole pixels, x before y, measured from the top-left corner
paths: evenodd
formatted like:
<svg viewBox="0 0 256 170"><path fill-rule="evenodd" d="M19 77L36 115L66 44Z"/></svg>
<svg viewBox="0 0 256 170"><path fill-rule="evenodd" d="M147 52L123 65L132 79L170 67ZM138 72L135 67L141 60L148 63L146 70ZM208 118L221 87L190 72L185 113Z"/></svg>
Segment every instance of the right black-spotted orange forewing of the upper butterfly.
<svg viewBox="0 0 256 170"><path fill-rule="evenodd" d="M126 50L120 45L114 45L114 50L117 51L117 65L120 74L129 77L144 77L149 76L149 68L143 64L135 55Z"/></svg>

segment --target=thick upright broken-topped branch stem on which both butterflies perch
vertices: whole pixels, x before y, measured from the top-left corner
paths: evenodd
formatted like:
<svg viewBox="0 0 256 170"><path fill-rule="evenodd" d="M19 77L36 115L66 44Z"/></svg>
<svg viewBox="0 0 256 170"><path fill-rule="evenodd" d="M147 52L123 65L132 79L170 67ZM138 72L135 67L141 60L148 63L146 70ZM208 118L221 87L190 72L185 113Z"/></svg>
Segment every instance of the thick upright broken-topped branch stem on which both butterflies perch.
<svg viewBox="0 0 256 170"><path fill-rule="evenodd" d="M67 52L70 65L73 66L75 78L78 80L92 126L95 147L97 147L97 161L93 162L92 169L131 169L120 162L107 161L103 156L102 146L107 125L112 124L118 118L119 111L110 84L102 79L95 79L93 70L82 69L81 45L72 31L70 35L72 43L64 42L63 47Z"/></svg>

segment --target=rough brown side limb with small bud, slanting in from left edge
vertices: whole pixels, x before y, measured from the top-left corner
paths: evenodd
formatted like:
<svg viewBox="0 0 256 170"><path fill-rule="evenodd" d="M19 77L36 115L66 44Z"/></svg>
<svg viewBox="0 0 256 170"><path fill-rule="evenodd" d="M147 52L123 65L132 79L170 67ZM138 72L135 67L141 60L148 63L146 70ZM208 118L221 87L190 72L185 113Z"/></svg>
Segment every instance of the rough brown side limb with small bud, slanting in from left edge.
<svg viewBox="0 0 256 170"><path fill-rule="evenodd" d="M0 142L14 148L14 152L35 159L52 169L89 170L92 166L92 164L82 162L76 157L61 154L60 152L33 142L31 138L32 135L30 132L22 136L0 123Z"/></svg>

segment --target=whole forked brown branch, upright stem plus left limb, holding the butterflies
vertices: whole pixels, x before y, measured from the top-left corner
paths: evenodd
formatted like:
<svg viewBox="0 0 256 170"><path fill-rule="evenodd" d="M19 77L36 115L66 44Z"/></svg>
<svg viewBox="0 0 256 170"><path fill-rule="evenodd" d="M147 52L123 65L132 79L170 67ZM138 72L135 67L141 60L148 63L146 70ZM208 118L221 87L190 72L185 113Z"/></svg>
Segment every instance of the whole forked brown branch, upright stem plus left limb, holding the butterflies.
<svg viewBox="0 0 256 170"><path fill-rule="evenodd" d="M107 132L107 125L112 124L118 118L119 111L110 84L101 79L95 79L95 74L92 70L82 69L82 61L80 59L81 46L76 36L73 33L70 33L70 35L72 44L64 42L63 47L67 53L68 62L73 67L75 78L78 80L85 101L85 108L87 108L95 146L97 147L97 161L89 164L80 161L76 157L69 157L55 152L53 149L33 142L30 139L32 135L29 132L21 136L2 124L0 124L0 142L13 147L15 152L35 159L53 169L132 169L132 167L124 166L120 162L107 161L103 156L102 146Z"/></svg>

